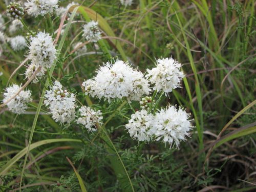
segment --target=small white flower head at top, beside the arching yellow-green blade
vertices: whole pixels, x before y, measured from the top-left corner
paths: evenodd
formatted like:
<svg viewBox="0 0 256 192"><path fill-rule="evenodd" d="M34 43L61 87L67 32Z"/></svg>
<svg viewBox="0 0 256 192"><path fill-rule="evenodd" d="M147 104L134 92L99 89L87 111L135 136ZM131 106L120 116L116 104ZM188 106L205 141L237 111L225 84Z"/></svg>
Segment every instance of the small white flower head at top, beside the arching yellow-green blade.
<svg viewBox="0 0 256 192"><path fill-rule="evenodd" d="M91 42L97 42L101 38L101 32L98 28L98 22L94 22L93 20L88 24L83 26L83 34L86 40Z"/></svg>

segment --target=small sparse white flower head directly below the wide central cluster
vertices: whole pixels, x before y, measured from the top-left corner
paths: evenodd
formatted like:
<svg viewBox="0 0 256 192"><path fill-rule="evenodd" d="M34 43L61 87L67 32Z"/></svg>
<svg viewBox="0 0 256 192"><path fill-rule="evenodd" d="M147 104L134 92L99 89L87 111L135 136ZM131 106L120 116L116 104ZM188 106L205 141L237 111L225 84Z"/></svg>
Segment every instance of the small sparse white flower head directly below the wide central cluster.
<svg viewBox="0 0 256 192"><path fill-rule="evenodd" d="M100 110L94 111L93 109L87 107L87 106L82 106L79 109L79 112L81 113L80 116L76 122L77 124L82 124L84 125L89 131L94 132L96 131L96 123L102 124L100 121L102 117L102 113Z"/></svg>

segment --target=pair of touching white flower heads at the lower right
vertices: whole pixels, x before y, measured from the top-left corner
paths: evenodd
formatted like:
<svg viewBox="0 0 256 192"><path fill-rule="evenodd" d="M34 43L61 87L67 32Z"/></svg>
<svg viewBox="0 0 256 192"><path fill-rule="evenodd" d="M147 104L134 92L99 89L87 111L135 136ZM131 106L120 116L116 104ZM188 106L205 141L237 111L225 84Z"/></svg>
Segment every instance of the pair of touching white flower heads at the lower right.
<svg viewBox="0 0 256 192"><path fill-rule="evenodd" d="M193 127L190 115L176 106L161 109L155 116L147 114L146 110L137 111L125 125L130 136L139 141L160 140L179 147L180 141L186 140L189 130Z"/></svg>

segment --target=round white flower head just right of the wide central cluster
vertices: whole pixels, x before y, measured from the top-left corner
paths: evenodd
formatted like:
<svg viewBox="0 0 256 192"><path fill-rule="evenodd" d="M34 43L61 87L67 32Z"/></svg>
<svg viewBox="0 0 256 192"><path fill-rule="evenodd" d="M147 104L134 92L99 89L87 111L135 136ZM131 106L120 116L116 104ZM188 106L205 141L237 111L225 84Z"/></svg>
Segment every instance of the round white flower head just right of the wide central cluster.
<svg viewBox="0 0 256 192"><path fill-rule="evenodd" d="M163 58L157 60L157 67L152 70L147 69L146 77L150 82L155 83L154 90L172 92L180 87L180 81L184 77L180 70L181 64L173 58Z"/></svg>

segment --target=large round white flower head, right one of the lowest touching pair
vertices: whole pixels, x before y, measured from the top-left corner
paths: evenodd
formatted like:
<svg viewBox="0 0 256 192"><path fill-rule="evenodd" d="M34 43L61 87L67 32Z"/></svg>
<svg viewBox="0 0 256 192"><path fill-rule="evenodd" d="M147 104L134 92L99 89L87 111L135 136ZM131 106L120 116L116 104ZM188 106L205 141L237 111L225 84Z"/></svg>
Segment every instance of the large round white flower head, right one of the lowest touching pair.
<svg viewBox="0 0 256 192"><path fill-rule="evenodd" d="M168 106L167 109L161 109L155 116L154 127L156 129L156 140L163 139L168 142L170 147L176 145L179 147L180 141L186 140L189 136L189 130L193 127L190 114L183 109L176 109L176 106Z"/></svg>

